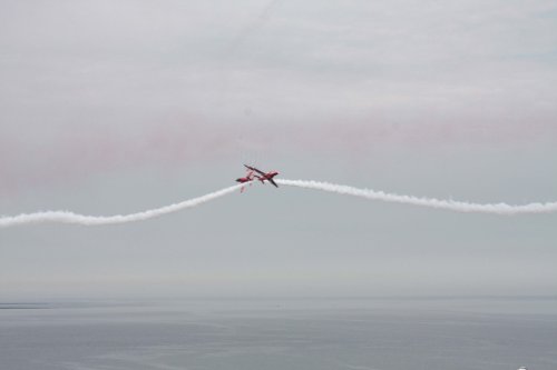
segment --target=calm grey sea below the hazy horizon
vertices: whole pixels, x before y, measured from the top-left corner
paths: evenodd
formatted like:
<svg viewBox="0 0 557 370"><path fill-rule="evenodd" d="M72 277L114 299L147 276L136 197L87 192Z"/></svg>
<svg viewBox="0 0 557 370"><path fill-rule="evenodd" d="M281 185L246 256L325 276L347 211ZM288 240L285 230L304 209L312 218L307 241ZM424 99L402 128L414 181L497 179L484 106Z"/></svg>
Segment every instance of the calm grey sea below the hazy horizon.
<svg viewBox="0 0 557 370"><path fill-rule="evenodd" d="M557 298L0 303L0 369L557 369Z"/></svg>

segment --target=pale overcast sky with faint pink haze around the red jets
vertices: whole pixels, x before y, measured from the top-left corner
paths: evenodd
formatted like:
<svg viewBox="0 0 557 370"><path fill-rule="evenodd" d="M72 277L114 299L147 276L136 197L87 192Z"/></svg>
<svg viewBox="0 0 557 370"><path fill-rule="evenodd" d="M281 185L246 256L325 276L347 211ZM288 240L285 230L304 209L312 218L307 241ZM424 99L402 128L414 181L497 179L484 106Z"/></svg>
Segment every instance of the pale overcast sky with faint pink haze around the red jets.
<svg viewBox="0 0 557 370"><path fill-rule="evenodd" d="M555 1L0 0L0 213L140 211L242 163L476 202L557 199ZM555 294L557 216L301 189L0 230L0 300Z"/></svg>

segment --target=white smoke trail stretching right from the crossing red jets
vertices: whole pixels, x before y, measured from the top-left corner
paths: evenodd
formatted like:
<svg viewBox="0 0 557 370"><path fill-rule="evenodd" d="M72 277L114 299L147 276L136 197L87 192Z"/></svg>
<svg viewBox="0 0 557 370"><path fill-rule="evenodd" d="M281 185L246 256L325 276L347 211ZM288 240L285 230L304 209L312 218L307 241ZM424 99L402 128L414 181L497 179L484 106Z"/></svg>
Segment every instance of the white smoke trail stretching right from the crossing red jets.
<svg viewBox="0 0 557 370"><path fill-rule="evenodd" d="M512 216L520 213L551 213L557 212L557 202L529 203L522 206L511 206L506 203L478 204L455 200L442 200L434 198L418 198L412 196L400 196L371 189L358 189L349 186L334 184L319 181L304 180L275 180L276 183L305 189L323 190L340 194L360 197L371 200L382 200L385 202L413 204L444 209L457 212L492 213Z"/></svg>

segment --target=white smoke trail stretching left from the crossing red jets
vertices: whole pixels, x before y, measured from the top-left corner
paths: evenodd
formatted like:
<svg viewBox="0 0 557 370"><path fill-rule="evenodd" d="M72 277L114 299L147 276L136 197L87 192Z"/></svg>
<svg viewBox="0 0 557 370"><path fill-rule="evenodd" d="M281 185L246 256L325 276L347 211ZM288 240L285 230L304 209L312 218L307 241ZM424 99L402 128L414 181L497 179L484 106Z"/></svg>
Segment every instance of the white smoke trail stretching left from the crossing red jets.
<svg viewBox="0 0 557 370"><path fill-rule="evenodd" d="M76 223L82 226L99 226L99 224L116 224L148 220L163 214L177 212L186 208L197 207L214 199L229 194L242 188L242 184L233 186L208 193L203 197L185 200L179 203L152 209L143 212L130 214L116 214L116 216L85 216L69 211L45 211L36 213L23 213L13 217L0 218L0 228L8 228L27 223L42 223L42 222L58 222L58 223Z"/></svg>

